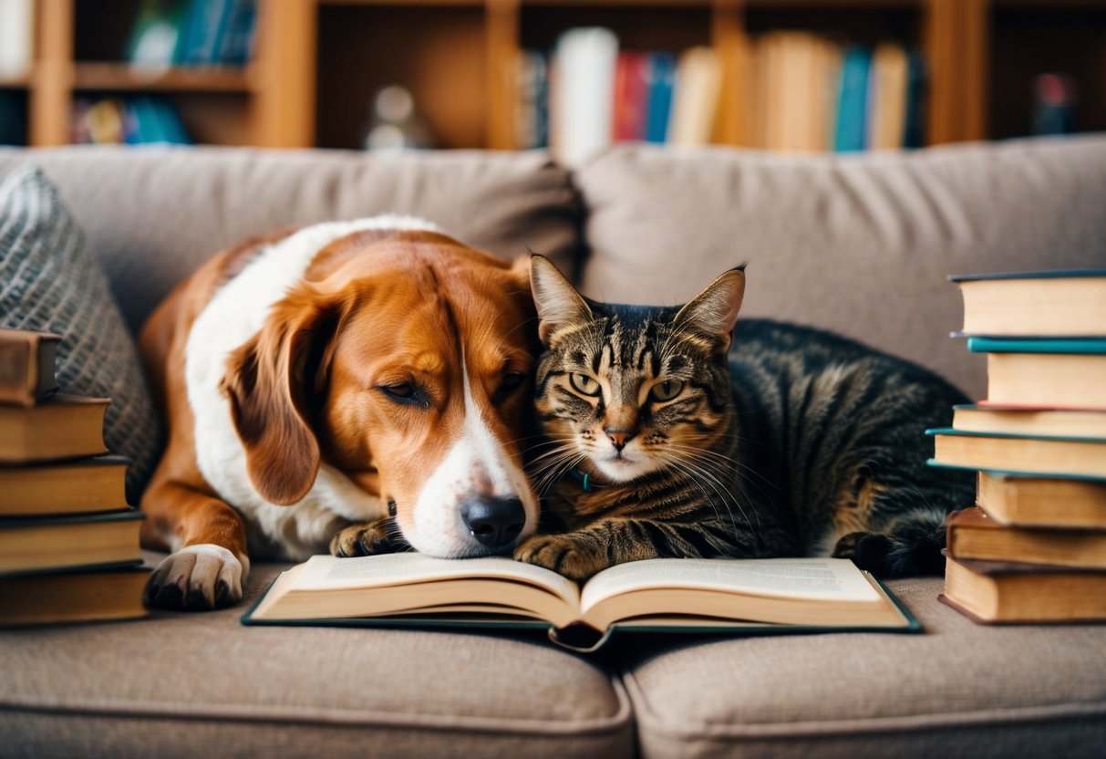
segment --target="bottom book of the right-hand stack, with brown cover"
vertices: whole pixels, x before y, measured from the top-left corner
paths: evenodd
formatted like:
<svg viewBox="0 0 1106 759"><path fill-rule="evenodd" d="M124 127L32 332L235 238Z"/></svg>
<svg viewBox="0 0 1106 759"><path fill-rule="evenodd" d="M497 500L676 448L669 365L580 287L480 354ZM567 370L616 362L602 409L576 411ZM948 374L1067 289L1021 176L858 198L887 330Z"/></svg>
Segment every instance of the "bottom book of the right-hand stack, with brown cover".
<svg viewBox="0 0 1106 759"><path fill-rule="evenodd" d="M948 558L938 596L982 624L1106 621L1106 572Z"/></svg>

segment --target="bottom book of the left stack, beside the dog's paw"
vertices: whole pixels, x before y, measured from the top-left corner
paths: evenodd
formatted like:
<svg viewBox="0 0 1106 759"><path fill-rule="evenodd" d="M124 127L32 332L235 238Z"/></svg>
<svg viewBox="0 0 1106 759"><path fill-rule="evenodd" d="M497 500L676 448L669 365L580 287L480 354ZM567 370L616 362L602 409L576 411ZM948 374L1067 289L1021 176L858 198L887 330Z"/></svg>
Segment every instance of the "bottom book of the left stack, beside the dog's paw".
<svg viewBox="0 0 1106 759"><path fill-rule="evenodd" d="M38 625L146 616L149 568L125 562L51 574L0 574L0 625Z"/></svg>

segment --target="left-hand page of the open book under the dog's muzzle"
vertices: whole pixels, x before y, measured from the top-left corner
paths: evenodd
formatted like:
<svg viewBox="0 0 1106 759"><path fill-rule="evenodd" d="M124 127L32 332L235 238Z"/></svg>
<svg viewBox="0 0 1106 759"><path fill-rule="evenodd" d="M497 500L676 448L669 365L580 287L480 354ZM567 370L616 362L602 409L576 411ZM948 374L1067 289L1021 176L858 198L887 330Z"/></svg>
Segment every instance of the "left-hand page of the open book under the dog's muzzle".
<svg viewBox="0 0 1106 759"><path fill-rule="evenodd" d="M298 590L385 588L445 580L491 579L542 588L574 607L580 603L580 590L571 580L541 566L499 557L435 559L416 552L352 559L317 555L311 557L303 566L295 579Z"/></svg>

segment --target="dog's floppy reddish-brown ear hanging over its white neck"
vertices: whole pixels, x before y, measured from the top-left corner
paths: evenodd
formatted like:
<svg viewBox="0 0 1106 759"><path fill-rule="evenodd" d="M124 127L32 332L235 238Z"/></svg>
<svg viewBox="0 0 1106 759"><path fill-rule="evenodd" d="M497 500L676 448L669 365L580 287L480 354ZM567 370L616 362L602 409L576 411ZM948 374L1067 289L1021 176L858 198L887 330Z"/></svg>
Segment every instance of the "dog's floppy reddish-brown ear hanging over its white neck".
<svg viewBox="0 0 1106 759"><path fill-rule="evenodd" d="M315 482L321 455L312 399L325 388L342 318L340 301L292 292L227 358L221 388L246 470L271 503L295 503Z"/></svg>

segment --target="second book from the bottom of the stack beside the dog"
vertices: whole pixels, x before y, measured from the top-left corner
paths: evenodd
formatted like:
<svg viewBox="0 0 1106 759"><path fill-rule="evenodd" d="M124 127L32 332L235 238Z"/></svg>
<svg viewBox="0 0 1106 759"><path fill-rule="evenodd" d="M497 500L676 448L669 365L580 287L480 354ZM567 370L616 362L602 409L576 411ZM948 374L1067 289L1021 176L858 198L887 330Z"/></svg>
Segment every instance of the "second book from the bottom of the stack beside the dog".
<svg viewBox="0 0 1106 759"><path fill-rule="evenodd" d="M138 561L136 509L50 519L0 520L0 572L32 572Z"/></svg>

